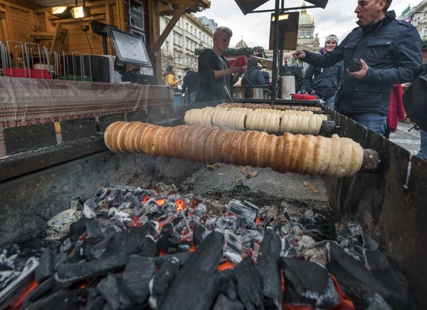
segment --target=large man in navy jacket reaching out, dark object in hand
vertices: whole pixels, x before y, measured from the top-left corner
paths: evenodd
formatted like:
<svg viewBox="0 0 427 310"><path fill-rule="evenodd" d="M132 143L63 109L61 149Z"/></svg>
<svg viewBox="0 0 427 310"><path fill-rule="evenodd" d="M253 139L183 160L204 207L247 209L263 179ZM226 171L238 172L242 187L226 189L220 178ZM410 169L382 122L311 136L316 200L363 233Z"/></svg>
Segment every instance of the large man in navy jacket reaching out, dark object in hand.
<svg viewBox="0 0 427 310"><path fill-rule="evenodd" d="M392 0L359 0L354 11L359 27L325 55L297 51L294 56L312 66L328 68L344 61L344 81L338 91L336 109L380 135L386 118L393 84L411 82L413 68L422 62L422 41L418 31L405 21L397 21L387 11ZM353 58L362 69L348 70Z"/></svg>

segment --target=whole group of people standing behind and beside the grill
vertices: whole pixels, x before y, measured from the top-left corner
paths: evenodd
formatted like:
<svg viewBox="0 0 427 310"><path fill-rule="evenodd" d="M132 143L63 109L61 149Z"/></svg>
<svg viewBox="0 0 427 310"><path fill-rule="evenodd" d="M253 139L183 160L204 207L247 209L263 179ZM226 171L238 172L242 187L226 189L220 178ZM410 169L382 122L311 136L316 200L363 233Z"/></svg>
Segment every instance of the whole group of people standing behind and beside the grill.
<svg viewBox="0 0 427 310"><path fill-rule="evenodd" d="M354 11L358 26L341 43L332 34L319 53L300 50L286 55L280 70L280 76L295 76L295 93L314 95L330 108L380 135L396 130L393 125L387 129L392 90L401 83L411 83L414 70L422 64L421 37L414 26L397 20L394 11L389 11L391 1L358 1ZM218 27L214 46L199 56L199 75L186 71L184 85L193 94L191 102L230 98L231 86L242 76L242 86L270 84L268 76L258 68L256 58L248 58L247 67L234 63L228 66L223 53L232 36L228 27ZM288 66L291 57L310 65L305 75L300 66ZM173 73L173 68L168 69ZM167 85L174 88L179 80L170 76L170 73L166 76ZM197 87L196 80L199 81ZM196 88L198 91L194 91ZM399 115L396 119L399 120ZM427 134L422 132L422 137L419 155L426 158Z"/></svg>

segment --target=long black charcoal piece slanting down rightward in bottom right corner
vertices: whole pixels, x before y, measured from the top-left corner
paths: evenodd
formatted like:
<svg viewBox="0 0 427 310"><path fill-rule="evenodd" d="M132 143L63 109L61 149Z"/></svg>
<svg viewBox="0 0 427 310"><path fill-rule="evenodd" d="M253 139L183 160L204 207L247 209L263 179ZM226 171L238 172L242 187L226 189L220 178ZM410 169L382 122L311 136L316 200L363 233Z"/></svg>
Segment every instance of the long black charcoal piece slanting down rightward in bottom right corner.
<svg viewBox="0 0 427 310"><path fill-rule="evenodd" d="M349 256L342 247L335 242L327 242L326 247L329 249L328 257L330 259L326 267L337 279L344 294L352 299L356 309L366 309L369 306L369 299L375 293L378 293L389 304L390 300L394 300L391 291L386 289L364 265Z"/></svg>

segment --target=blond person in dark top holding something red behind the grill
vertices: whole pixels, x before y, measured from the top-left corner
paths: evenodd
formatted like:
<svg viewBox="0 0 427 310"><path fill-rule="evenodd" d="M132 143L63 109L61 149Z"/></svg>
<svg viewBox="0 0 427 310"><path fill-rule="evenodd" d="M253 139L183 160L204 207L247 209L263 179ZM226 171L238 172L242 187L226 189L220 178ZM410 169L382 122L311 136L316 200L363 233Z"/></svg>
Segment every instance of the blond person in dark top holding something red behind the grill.
<svg viewBox="0 0 427 310"><path fill-rule="evenodd" d="M201 52L199 56L199 93L197 102L223 100L231 97L231 86L240 78L244 70L234 64L228 68L223 53L230 45L233 32L228 27L218 27L214 33L214 46Z"/></svg>

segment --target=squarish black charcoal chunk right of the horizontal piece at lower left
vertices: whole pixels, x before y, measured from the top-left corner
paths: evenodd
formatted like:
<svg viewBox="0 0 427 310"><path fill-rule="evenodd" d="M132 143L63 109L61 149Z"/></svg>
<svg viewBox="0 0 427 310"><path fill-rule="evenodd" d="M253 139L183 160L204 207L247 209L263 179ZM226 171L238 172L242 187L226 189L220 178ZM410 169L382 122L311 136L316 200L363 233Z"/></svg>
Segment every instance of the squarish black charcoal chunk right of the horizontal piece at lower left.
<svg viewBox="0 0 427 310"><path fill-rule="evenodd" d="M131 255L123 273L122 285L125 294L137 304L147 301L149 295L149 281L156 273L154 259Z"/></svg>

